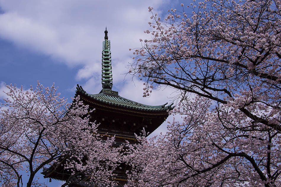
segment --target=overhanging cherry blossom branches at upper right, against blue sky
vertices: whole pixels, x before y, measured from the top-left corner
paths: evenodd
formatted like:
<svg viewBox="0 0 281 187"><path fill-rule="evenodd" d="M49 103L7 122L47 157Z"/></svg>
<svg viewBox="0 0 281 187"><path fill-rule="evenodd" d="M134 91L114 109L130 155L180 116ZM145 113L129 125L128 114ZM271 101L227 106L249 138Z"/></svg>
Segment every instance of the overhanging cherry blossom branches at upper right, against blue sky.
<svg viewBox="0 0 281 187"><path fill-rule="evenodd" d="M151 39L140 39L129 71L145 78L144 96L168 85L183 99L195 93L232 103L253 123L280 131L281 2L207 0L189 9L171 9L165 19L152 13Z"/></svg>

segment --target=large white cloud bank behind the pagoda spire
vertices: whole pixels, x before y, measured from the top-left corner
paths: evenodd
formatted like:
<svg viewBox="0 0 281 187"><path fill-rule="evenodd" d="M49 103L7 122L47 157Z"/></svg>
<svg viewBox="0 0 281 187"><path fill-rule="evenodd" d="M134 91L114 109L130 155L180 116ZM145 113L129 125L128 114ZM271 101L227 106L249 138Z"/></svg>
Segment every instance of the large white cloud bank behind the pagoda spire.
<svg viewBox="0 0 281 187"><path fill-rule="evenodd" d="M0 14L0 38L59 59L67 66L82 66L75 79L82 82L80 84L88 93L96 94L101 90L101 48L107 26L111 40L113 90L130 100L162 105L172 102L173 89L154 90L151 97L143 98L143 83L137 79L132 82L130 75L124 78L124 73L128 62L132 61L132 52L128 49L140 46L140 38L150 37L143 32L151 28L148 6L161 14L163 4L167 3L169 1L164 0L106 3L97 0L0 0L4 11Z"/></svg>

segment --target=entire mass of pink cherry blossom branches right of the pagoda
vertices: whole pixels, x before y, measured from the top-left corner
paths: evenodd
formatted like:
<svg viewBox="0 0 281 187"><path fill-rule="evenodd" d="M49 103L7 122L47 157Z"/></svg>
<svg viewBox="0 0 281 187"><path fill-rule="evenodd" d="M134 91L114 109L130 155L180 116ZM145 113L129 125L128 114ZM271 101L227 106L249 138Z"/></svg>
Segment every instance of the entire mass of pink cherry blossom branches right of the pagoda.
<svg viewBox="0 0 281 187"><path fill-rule="evenodd" d="M183 122L127 149L128 186L280 186L281 1L188 10L152 13L151 39L134 49L129 73L145 80L144 97L180 91L172 113Z"/></svg>

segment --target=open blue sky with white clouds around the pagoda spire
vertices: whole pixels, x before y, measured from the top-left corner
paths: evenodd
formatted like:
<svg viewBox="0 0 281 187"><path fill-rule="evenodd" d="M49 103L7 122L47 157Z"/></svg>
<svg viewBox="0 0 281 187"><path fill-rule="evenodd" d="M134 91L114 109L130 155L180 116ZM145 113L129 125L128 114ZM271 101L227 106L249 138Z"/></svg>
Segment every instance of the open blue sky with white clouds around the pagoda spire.
<svg viewBox="0 0 281 187"><path fill-rule="evenodd" d="M191 1L183 2L189 4ZM143 82L124 75L133 54L140 47L143 31L151 29L151 12L164 17L182 1L94 1L94 0L0 0L0 97L6 84L28 89L37 80L53 82L63 97L75 95L76 84L88 93L101 90L101 51L104 30L111 40L113 90L119 95L148 105L171 103L170 88L153 91L143 98ZM170 117L170 119L172 118ZM165 131L164 123L154 134Z"/></svg>

